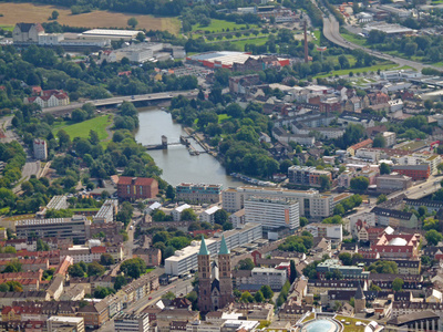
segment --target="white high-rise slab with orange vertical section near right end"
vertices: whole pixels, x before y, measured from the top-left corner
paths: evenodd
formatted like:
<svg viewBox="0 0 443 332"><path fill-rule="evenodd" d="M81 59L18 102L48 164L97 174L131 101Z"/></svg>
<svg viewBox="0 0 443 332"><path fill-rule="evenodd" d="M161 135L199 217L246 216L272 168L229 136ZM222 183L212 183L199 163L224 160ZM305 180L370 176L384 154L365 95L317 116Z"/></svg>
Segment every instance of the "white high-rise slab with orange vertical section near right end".
<svg viewBox="0 0 443 332"><path fill-rule="evenodd" d="M300 226L299 204L291 199L250 197L245 201L245 220L260 224L266 230L297 229Z"/></svg>

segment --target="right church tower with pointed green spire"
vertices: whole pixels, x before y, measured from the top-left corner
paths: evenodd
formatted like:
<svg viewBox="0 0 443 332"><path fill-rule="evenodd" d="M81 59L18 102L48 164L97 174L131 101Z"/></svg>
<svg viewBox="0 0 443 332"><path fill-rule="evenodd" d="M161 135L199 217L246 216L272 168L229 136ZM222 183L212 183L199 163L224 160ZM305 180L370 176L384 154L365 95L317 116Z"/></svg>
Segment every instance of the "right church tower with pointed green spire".
<svg viewBox="0 0 443 332"><path fill-rule="evenodd" d="M223 236L220 250L218 251L218 280L220 288L219 308L224 308L234 302L231 271L230 252L226 246L225 236Z"/></svg>

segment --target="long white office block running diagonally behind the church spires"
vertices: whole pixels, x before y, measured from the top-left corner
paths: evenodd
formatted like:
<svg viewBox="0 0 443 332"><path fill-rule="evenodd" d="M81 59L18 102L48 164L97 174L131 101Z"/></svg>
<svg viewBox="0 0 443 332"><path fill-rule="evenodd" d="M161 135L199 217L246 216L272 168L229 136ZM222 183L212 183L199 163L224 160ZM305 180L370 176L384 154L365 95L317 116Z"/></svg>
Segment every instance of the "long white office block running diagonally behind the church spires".
<svg viewBox="0 0 443 332"><path fill-rule="evenodd" d="M220 248L220 236L205 240L206 247L215 255ZM246 224L243 228L227 230L223 232L226 246L229 250L238 248L243 245L250 243L262 238L262 227L259 224ZM172 276L181 276L195 271L197 269L197 255L200 247L199 241L193 241L190 246L176 250L174 256L165 259L165 273Z"/></svg>

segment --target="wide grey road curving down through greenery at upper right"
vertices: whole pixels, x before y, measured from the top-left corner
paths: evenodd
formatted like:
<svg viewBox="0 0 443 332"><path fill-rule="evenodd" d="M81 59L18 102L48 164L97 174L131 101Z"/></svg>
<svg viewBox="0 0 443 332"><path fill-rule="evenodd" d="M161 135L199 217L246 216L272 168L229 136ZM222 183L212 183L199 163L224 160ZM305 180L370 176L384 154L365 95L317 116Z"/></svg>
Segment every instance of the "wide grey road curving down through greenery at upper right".
<svg viewBox="0 0 443 332"><path fill-rule="evenodd" d="M323 15L323 35L330 42L338 44L339 46L351 49L351 50L360 49L360 50L363 50L367 53L374 55L377 58L395 62L400 66L409 65L420 72L422 71L423 68L432 68L432 69L440 70L440 71L442 70L441 68L426 65L426 64L423 64L420 62L406 60L406 59L399 58L399 56L392 56L392 55L389 55L389 54L385 54L385 53L382 53L379 51L374 51L374 50L371 50L371 49L368 49L368 48L364 48L364 46L361 46L361 45L358 45L358 44L347 41L344 38L341 37L339 22L332 14L329 14L329 18Z"/></svg>

